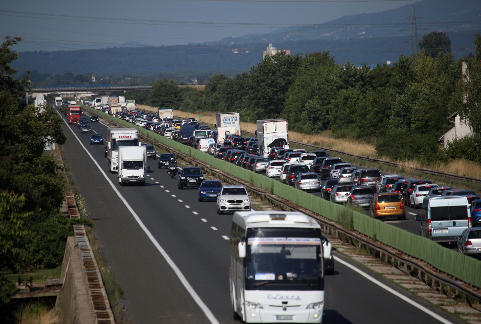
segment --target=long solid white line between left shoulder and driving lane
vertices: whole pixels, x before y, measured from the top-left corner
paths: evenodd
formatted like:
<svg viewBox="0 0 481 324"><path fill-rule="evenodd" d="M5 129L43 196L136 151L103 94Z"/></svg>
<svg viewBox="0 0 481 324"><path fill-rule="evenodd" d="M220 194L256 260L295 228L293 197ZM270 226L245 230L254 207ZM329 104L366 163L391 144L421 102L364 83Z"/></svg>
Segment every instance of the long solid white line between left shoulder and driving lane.
<svg viewBox="0 0 481 324"><path fill-rule="evenodd" d="M57 113L60 115L60 113L57 111ZM60 115L60 117L62 118L62 115ZM192 297L192 299L194 299L194 301L197 303L197 305L199 305L199 307L201 308L201 310L204 312L205 316L209 319L209 321L211 323L214 323L214 324L219 324L219 322L215 319L215 316L214 314L209 310L209 308L207 307L207 305L204 304L204 302L202 301L202 299L199 297L199 295L197 295L197 293L195 292L194 288L192 288L192 286L190 286L189 284L189 281L187 281L186 277L184 276L184 274L182 274L182 272L180 271L180 269L177 267L177 265L174 263L174 261L172 261L172 259L169 257L169 255L167 254L167 252L165 252L165 249L162 248L162 246L159 244L159 242L157 242L157 240L155 239L155 237L153 237L152 233L149 231L149 229L144 225L144 223L142 223L142 221L140 220L139 218L139 215L137 215L137 213L132 209L132 207L130 207L129 203L127 202L127 200L122 196L122 194L118 191L117 187L115 187L114 183L109 179L109 177L107 176L107 174L105 174L105 172L102 170L101 166L99 165L99 163L97 163L97 161L95 161L95 159L93 158L93 156L90 154L90 152L87 150L87 148L82 144L82 142L80 141L80 139L77 137L77 135L74 133L74 131L72 130L72 128L69 127L68 123L65 122L65 120L62 118L63 122L65 123L65 125L67 125L68 129L70 129L70 131L72 132L72 134L75 136L75 138L77 139L78 143L82 146L82 148L85 150L85 152L87 152L87 154L89 155L90 159L92 159L92 161L95 163L95 165L97 166L97 168L99 169L99 171L101 172L101 174L103 175L103 177L105 178L105 180L108 181L108 183L110 184L110 186L112 187L112 189L114 190L114 192L117 194L117 196L120 198L120 200L122 200L122 202L124 203L124 205L127 207L128 211L132 214L132 216L134 217L134 219L137 221L137 223L139 224L140 228L145 232L145 234L147 235L147 237L149 237L149 239L151 240L151 242L153 243L153 245L157 248L157 250L160 252L160 254L162 254L162 256L164 257L165 261L170 265L170 267L172 268L172 270L174 271L174 273L177 275L177 277L179 278L180 282L182 283L182 285L186 288L186 290L189 292L190 296Z"/></svg>

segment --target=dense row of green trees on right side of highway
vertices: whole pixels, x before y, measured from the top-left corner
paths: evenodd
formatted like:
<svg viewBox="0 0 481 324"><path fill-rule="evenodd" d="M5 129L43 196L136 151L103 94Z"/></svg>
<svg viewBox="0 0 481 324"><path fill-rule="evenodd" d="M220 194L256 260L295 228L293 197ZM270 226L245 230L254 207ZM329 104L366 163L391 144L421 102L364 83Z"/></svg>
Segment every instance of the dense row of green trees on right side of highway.
<svg viewBox="0 0 481 324"><path fill-rule="evenodd" d="M400 55L396 63L374 68L337 64L329 52L304 57L278 53L234 77L213 75L205 91L179 89L162 79L151 91L126 96L186 112L238 111L246 122L287 118L291 130L306 134L330 130L336 137L372 143L378 155L395 160L481 162L480 35L474 44L475 54L454 60L449 38L433 32L420 41L417 54ZM468 79L461 76L463 61L468 64ZM440 150L438 139L453 127L447 117L456 111L474 137Z"/></svg>

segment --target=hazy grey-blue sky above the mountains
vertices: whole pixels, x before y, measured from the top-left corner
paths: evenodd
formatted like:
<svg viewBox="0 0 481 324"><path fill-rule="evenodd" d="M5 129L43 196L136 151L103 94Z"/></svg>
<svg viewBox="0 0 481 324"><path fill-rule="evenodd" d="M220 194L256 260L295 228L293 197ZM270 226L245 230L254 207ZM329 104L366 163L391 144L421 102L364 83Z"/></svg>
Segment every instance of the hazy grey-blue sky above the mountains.
<svg viewBox="0 0 481 324"><path fill-rule="evenodd" d="M0 6L0 10L75 15L84 18L0 12L0 34L2 36L42 38L25 38L24 42L14 48L19 51L99 48L126 42L149 45L187 44L218 40L229 36L266 33L278 27L266 28L252 25L234 27L181 22L318 24L346 15L380 12L415 2L406 0L331 1L315 3L255 2L252 0L247 2L213 0L5 1ZM48 19L44 19L45 17ZM120 23L118 20L91 21L92 19L89 17L181 22L142 23L130 21L129 24L129 21L125 20Z"/></svg>

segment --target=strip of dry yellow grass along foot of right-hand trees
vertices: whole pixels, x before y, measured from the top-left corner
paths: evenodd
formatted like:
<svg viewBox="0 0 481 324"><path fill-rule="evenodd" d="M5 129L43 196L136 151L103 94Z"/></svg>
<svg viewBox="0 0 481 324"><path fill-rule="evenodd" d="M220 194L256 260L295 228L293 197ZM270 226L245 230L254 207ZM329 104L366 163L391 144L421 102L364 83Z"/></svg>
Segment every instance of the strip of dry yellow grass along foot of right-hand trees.
<svg viewBox="0 0 481 324"><path fill-rule="evenodd" d="M157 109L154 107L146 106L146 105L137 105L140 109L156 112ZM181 112L179 110L174 110L174 116L180 118L188 118L188 117L195 117L198 120L207 123L207 124L215 124L215 112ZM202 116L202 118L199 118ZM241 122L241 129L243 131L253 133L257 128L256 125L253 123L244 123ZM291 140L312 144L332 150L339 150L342 152L355 154L355 155L362 155L367 157L376 157L383 160L391 161L391 159L387 157L379 157L376 155L376 150L374 146L357 141L353 138L336 138L332 137L330 132L324 132L323 134L318 135L307 135L298 132L289 132L289 138ZM442 172L448 172L452 174L460 174L466 175L475 178L481 178L481 165L479 163L470 162L467 160L454 160L448 163L436 163L433 165L425 165L421 162L414 161L414 160L407 160L407 161L395 161L401 164L402 167L406 169L416 169L416 168L427 168Z"/></svg>

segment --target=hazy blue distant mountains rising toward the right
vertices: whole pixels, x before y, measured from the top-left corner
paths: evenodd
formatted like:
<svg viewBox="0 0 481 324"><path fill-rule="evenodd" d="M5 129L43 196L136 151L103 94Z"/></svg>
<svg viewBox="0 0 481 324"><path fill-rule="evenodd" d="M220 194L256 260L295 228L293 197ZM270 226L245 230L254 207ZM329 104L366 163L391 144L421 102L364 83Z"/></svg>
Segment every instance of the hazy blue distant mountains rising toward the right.
<svg viewBox="0 0 481 324"><path fill-rule="evenodd" d="M396 62L400 54L409 55L411 10L412 6L406 5L320 25L281 28L202 44L20 52L12 65L20 71L30 69L52 75L153 75L179 71L233 75L260 62L268 43L274 43L279 50L291 50L291 54L329 50L338 63L376 65ZM423 0L416 3L416 16L419 39L440 30L451 38L456 58L474 51L474 34L481 33L481 1Z"/></svg>

